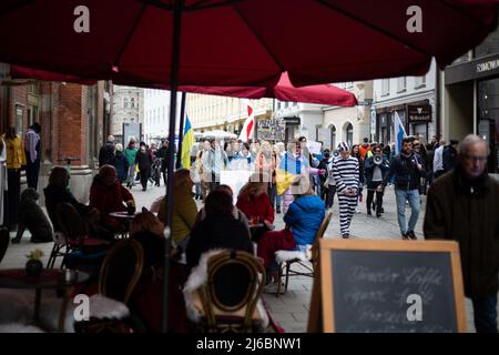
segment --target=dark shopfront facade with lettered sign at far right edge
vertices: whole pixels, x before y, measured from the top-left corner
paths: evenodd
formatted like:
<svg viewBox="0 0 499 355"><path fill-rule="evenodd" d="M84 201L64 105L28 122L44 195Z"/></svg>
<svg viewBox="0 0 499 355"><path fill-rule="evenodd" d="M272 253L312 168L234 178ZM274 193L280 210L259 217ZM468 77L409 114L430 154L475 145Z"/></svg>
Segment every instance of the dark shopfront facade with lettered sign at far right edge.
<svg viewBox="0 0 499 355"><path fill-rule="evenodd" d="M489 172L499 174L499 29L447 67L441 78L444 138L482 136L490 150Z"/></svg>

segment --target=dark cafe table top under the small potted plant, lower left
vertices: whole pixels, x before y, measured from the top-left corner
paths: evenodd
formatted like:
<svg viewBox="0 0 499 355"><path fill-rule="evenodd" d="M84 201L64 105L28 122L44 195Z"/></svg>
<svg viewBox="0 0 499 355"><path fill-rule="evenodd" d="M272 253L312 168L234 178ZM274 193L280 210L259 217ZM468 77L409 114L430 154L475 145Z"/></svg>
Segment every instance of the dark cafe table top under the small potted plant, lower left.
<svg viewBox="0 0 499 355"><path fill-rule="evenodd" d="M59 288L73 286L90 278L85 272L78 271L72 281L64 280L64 271L44 268L39 276L29 276L24 268L0 271L0 288Z"/></svg>

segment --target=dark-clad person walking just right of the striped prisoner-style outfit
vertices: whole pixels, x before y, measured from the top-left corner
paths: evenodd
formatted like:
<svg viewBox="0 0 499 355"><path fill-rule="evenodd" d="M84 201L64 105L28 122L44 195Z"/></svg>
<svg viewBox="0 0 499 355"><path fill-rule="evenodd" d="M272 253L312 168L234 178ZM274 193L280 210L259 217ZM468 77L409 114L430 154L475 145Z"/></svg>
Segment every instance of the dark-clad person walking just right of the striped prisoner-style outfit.
<svg viewBox="0 0 499 355"><path fill-rule="evenodd" d="M390 168L388 161L383 156L381 148L379 145L373 149L374 155L368 158L365 162L365 179L367 184L367 214L371 215L370 207L376 192L376 216L381 216L383 211L383 195L385 186L388 183L388 175Z"/></svg>

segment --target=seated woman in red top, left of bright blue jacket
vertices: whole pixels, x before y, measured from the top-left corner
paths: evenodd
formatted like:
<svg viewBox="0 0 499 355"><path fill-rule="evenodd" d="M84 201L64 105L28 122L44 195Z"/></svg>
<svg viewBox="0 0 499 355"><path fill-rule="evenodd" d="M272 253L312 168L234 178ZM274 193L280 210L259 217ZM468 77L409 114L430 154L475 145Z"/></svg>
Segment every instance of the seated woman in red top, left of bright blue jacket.
<svg viewBox="0 0 499 355"><path fill-rule="evenodd" d="M240 191L236 206L246 215L249 226L263 223L266 230L273 229L274 209L267 195L269 179L267 174L255 173Z"/></svg>

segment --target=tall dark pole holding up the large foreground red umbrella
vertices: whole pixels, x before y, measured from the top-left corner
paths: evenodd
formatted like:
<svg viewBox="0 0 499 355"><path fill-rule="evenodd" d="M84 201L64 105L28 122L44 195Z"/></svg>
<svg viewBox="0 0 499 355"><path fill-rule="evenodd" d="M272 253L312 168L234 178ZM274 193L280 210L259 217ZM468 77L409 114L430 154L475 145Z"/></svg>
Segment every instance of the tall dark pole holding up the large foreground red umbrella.
<svg viewBox="0 0 499 355"><path fill-rule="evenodd" d="M173 215L173 169L174 169L174 148L175 148L175 125L176 125L176 91L179 87L179 62L180 62L180 38L182 23L182 9L184 0L174 1L173 11L173 48L172 48L172 68L170 73L170 130L169 130L169 161L167 161L167 184L166 184L166 220L164 236L164 264L163 264L163 313L161 331L169 332L169 284L170 284L170 237Z"/></svg>

